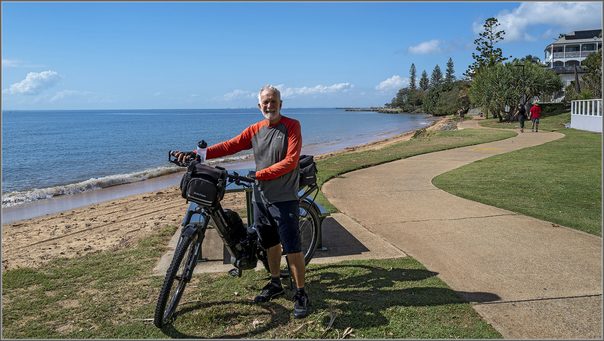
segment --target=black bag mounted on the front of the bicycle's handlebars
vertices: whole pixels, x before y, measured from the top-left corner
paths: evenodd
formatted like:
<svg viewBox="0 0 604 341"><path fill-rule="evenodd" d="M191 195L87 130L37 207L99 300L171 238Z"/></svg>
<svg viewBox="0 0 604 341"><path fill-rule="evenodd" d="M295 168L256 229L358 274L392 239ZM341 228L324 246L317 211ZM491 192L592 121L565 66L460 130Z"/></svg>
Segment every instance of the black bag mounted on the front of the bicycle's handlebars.
<svg viewBox="0 0 604 341"><path fill-rule="evenodd" d="M209 207L222 200L225 187L226 169L207 166L197 160L191 161L181 180L182 198Z"/></svg>

